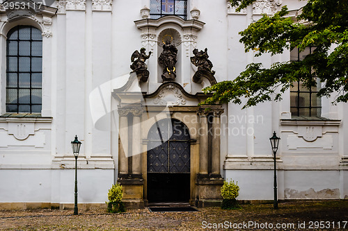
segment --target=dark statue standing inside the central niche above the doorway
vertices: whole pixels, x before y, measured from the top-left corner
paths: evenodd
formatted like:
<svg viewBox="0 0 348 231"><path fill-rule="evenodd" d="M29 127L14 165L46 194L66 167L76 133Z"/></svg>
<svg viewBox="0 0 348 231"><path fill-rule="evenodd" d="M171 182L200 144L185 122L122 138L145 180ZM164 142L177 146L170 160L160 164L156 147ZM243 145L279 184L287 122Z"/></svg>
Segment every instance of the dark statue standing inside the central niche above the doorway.
<svg viewBox="0 0 348 231"><path fill-rule="evenodd" d="M177 49L171 44L170 40L166 40L163 45L163 51L159 55L159 64L164 67L161 75L163 81L173 81L176 77L175 64L177 62Z"/></svg>

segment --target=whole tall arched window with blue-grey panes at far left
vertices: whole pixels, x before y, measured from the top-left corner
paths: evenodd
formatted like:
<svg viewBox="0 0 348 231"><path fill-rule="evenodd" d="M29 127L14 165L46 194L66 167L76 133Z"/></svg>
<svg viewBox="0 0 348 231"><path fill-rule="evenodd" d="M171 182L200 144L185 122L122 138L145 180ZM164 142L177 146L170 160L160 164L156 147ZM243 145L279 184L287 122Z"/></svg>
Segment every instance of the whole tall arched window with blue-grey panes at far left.
<svg viewBox="0 0 348 231"><path fill-rule="evenodd" d="M42 108L42 33L16 26L7 34L6 112L40 113Z"/></svg>

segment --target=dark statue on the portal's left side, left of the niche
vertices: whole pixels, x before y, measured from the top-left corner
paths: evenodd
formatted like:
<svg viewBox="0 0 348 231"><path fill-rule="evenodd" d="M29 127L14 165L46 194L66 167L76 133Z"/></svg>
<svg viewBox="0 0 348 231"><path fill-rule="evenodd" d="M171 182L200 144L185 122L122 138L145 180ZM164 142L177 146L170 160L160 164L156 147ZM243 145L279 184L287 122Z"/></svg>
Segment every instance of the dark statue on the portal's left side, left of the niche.
<svg viewBox="0 0 348 231"><path fill-rule="evenodd" d="M146 82L148 80L150 72L148 71L148 65L145 64L145 61L150 58L151 51L148 55L145 53L146 49L141 48L140 52L138 50L134 51L131 57L132 65L130 68L135 72L137 76L141 76L141 81Z"/></svg>

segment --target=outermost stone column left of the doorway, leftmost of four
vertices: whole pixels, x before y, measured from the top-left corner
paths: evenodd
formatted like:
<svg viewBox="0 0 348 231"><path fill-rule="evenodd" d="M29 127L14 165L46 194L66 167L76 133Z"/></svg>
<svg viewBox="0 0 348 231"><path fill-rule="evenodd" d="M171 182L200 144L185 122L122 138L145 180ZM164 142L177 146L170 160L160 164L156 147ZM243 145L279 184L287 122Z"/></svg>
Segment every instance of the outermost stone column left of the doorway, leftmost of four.
<svg viewBox="0 0 348 231"><path fill-rule="evenodd" d="M118 169L120 175L128 174L128 113L129 109L118 108L118 114L120 115Z"/></svg>

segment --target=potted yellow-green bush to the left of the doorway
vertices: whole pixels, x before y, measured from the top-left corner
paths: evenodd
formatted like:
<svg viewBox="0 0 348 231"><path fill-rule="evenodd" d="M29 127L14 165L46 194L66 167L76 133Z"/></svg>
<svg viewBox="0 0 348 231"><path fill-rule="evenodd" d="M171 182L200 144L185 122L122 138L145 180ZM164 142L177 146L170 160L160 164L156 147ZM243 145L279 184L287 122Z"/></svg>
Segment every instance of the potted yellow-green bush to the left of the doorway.
<svg viewBox="0 0 348 231"><path fill-rule="evenodd" d="M108 205L107 212L125 212L126 209L125 205L123 205L122 198L122 185L120 183L112 185L108 193L109 202L105 202Z"/></svg>

